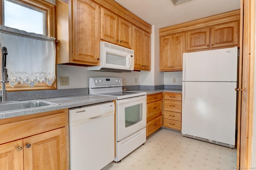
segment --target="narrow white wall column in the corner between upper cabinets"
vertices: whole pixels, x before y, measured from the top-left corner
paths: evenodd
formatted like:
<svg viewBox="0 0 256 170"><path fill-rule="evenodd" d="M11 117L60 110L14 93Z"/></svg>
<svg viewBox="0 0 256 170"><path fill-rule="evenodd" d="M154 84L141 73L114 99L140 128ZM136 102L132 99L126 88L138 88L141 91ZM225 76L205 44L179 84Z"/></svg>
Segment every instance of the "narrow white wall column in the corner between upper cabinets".
<svg viewBox="0 0 256 170"><path fill-rule="evenodd" d="M164 73L159 71L159 28L152 26L151 71L140 71L140 85L164 85Z"/></svg>

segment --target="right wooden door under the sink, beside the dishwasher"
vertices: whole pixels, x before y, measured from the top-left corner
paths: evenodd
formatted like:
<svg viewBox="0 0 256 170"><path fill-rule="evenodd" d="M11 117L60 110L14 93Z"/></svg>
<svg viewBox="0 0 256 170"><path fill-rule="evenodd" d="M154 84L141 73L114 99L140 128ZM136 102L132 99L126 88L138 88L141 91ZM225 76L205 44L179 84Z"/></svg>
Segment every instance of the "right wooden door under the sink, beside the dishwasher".
<svg viewBox="0 0 256 170"><path fill-rule="evenodd" d="M66 170L65 128L23 139L24 170Z"/></svg>

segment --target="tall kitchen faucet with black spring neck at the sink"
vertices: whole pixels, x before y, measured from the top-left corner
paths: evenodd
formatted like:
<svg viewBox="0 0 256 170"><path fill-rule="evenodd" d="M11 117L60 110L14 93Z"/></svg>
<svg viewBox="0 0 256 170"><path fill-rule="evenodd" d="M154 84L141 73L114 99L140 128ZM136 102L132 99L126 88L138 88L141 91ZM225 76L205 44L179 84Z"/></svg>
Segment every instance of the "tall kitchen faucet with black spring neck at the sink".
<svg viewBox="0 0 256 170"><path fill-rule="evenodd" d="M6 55L7 55L7 49L6 47L2 48L2 67L1 67L1 73L2 73L2 89L0 93L0 102L6 102L7 101L7 90L5 89L5 83L8 83L9 81L7 80L8 74L7 74L7 69L6 67Z"/></svg>

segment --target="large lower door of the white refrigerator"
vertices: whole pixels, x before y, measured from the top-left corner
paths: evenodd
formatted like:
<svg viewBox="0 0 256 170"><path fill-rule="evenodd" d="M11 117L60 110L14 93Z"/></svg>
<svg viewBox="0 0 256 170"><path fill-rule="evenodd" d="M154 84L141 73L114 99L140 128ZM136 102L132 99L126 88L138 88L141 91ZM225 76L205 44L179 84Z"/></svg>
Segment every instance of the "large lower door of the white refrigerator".
<svg viewBox="0 0 256 170"><path fill-rule="evenodd" d="M236 83L183 82L182 134L235 144Z"/></svg>

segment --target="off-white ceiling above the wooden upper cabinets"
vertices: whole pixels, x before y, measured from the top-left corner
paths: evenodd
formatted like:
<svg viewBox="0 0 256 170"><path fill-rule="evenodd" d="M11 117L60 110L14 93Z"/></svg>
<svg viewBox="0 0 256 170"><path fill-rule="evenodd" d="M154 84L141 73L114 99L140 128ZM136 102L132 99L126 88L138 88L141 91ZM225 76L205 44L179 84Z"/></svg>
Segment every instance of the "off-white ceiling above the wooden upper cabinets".
<svg viewBox="0 0 256 170"><path fill-rule="evenodd" d="M158 28L240 9L240 0L190 0L174 6L171 0L114 0Z"/></svg>

